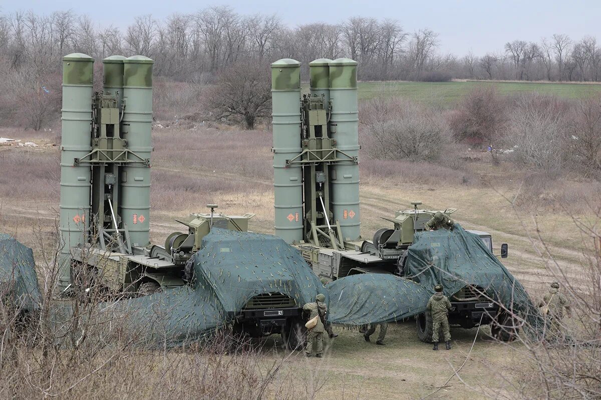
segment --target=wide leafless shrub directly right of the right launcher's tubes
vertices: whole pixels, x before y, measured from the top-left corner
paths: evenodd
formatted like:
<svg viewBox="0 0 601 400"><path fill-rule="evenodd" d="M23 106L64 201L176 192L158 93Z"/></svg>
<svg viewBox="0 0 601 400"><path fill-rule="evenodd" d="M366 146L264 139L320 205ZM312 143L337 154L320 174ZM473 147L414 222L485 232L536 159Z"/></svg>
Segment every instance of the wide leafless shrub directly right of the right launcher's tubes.
<svg viewBox="0 0 601 400"><path fill-rule="evenodd" d="M453 144L440 113L399 98L376 98L364 106L369 115L364 143L373 158L439 161Z"/></svg>

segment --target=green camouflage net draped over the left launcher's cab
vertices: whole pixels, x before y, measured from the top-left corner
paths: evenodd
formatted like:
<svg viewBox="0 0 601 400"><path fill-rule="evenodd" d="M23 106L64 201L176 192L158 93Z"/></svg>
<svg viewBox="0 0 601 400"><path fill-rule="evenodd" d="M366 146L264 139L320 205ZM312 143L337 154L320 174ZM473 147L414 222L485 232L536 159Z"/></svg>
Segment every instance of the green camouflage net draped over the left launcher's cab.
<svg viewBox="0 0 601 400"><path fill-rule="evenodd" d="M299 252L267 234L213 228L192 266L192 285L121 300L117 310L126 309L131 327L148 341L178 345L230 323L257 294L285 294L299 308L318 293L327 296Z"/></svg>

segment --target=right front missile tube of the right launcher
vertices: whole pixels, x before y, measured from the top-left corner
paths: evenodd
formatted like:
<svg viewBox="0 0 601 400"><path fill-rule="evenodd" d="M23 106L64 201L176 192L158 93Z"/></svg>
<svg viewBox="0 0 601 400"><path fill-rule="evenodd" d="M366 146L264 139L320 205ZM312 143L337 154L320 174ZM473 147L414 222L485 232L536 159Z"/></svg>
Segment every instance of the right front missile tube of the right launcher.
<svg viewBox="0 0 601 400"><path fill-rule="evenodd" d="M332 137L336 147L359 160L359 119L357 102L357 62L338 58L329 63L332 100ZM359 214L359 165L343 162L334 165L332 176L332 212L340 222L344 240L361 236Z"/></svg>

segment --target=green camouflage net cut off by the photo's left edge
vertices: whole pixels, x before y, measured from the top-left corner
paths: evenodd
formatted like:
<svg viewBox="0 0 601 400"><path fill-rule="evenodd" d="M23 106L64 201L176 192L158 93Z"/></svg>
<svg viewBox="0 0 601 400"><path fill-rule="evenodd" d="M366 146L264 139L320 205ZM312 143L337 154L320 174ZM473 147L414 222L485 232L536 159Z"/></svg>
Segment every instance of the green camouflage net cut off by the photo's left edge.
<svg viewBox="0 0 601 400"><path fill-rule="evenodd" d="M24 311L39 308L33 251L9 234L0 233L0 296L7 296Z"/></svg>

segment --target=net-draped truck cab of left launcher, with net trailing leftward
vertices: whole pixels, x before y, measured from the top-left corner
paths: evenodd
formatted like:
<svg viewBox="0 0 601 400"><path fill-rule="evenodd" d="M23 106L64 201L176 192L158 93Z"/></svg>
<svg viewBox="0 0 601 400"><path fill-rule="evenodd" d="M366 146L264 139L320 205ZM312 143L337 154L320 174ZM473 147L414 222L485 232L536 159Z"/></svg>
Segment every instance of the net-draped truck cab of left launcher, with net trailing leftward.
<svg viewBox="0 0 601 400"><path fill-rule="evenodd" d="M216 330L304 342L302 306L325 292L301 255L268 234L213 228L186 265L188 284L107 303L148 342L181 345ZM327 301L327 300L326 300Z"/></svg>

